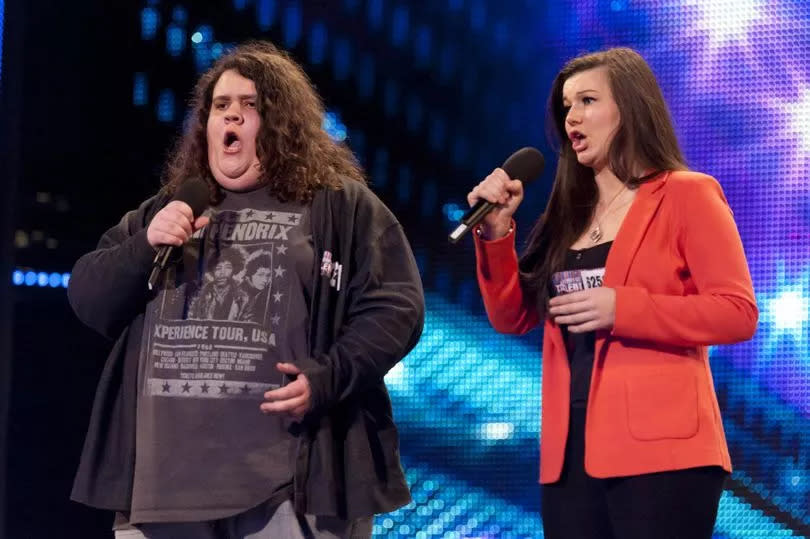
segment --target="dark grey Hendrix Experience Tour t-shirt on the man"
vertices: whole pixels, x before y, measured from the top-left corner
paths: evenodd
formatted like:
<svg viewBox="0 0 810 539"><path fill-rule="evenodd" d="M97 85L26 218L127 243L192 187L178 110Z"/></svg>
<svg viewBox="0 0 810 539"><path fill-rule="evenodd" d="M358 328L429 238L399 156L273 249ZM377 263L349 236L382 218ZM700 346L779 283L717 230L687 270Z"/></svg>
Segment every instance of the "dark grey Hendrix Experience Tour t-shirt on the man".
<svg viewBox="0 0 810 539"><path fill-rule="evenodd" d="M222 518L292 481L290 420L259 405L308 354L309 207L262 188L207 215L147 307L132 523Z"/></svg>

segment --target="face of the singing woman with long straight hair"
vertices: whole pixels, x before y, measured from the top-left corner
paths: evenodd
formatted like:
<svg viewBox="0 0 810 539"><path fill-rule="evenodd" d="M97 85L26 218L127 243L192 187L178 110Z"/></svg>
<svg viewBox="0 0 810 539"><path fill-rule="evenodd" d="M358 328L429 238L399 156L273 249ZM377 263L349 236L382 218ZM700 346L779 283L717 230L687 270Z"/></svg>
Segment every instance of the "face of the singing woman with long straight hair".
<svg viewBox="0 0 810 539"><path fill-rule="evenodd" d="M621 116L610 90L607 68L571 75L563 84L565 132L580 164L599 172L608 164L608 148Z"/></svg>

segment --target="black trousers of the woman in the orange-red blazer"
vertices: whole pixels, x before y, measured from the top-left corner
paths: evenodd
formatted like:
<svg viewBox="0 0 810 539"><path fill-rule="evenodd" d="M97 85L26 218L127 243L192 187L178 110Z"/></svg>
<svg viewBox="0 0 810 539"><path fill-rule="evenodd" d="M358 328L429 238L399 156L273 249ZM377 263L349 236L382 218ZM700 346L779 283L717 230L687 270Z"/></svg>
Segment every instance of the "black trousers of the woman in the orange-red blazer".
<svg viewBox="0 0 810 539"><path fill-rule="evenodd" d="M571 408L562 476L542 486L548 539L711 539L726 471L689 468L612 479L585 473L585 408Z"/></svg>

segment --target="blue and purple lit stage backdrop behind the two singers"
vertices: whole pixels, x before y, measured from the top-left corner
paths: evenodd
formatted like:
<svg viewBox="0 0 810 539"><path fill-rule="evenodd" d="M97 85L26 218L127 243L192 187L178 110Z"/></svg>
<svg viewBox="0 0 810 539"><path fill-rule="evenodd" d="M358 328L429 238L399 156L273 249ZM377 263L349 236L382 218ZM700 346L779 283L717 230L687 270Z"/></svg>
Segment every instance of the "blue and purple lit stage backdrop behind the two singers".
<svg viewBox="0 0 810 539"><path fill-rule="evenodd" d="M425 332L386 380L414 501L386 537L542 537L539 335L497 335L471 249L444 236L464 194L540 147L551 80L581 52L630 46L664 89L689 165L722 184L761 310L755 338L712 349L735 471L716 537L810 526L810 5L802 0L146 1L133 106L176 132L196 75L233 43L291 50L403 220L427 291ZM323 4L328 4L325 6ZM528 189L519 232L545 205ZM133 204L136 201L133 201ZM19 273L25 284L42 276ZM48 276L59 287L67 276ZM52 281L52 282L51 282Z"/></svg>

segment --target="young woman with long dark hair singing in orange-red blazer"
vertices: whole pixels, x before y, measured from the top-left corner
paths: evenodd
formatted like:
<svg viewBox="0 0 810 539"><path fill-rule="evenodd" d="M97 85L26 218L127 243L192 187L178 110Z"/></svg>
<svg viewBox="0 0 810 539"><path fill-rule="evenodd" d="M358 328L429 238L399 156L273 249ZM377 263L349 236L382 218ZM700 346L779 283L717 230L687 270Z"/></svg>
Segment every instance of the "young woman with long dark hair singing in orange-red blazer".
<svg viewBox="0 0 810 539"><path fill-rule="evenodd" d="M709 539L731 461L707 347L758 317L732 212L635 51L571 60L548 117L556 177L520 259L520 180L496 169L468 195L498 203L475 241L493 327L544 328L546 536Z"/></svg>

